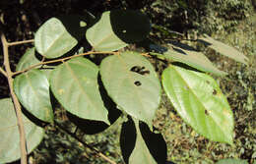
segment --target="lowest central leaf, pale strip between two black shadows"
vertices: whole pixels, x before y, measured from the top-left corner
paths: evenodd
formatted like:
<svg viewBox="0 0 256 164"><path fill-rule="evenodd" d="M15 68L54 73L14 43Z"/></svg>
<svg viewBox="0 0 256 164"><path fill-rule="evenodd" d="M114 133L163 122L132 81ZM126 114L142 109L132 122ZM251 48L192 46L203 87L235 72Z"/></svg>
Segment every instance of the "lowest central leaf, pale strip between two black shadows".
<svg viewBox="0 0 256 164"><path fill-rule="evenodd" d="M136 133L138 131L140 133ZM142 138L143 140L138 140L140 138ZM142 145L145 144L144 142L146 143L146 147L148 148L150 155L154 158L154 160L157 163L166 163L167 147L163 137L160 134L153 133L148 127L148 125L143 122L139 123L139 130L136 130L136 125L131 118L129 118L127 122L123 123L120 136L120 146L125 163L128 164L131 160L133 162L137 160L130 159L133 151L136 149L135 147L137 147L137 152L135 152L136 155L133 155L132 158L135 158L135 156L138 157L139 155L141 155L142 157L143 155L149 155L137 154L140 152L138 151L140 149L138 149L138 145L136 144ZM144 151L144 153L147 153L147 151ZM147 156L149 160L151 160L150 158L152 157Z"/></svg>

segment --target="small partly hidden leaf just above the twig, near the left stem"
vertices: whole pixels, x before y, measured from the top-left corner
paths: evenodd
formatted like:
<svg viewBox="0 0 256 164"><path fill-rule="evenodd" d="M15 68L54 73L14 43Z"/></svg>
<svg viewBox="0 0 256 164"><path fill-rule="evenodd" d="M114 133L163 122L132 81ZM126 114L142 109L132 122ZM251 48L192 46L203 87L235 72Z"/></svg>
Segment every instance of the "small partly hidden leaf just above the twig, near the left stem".
<svg viewBox="0 0 256 164"><path fill-rule="evenodd" d="M23 71L37 63L40 63L40 61L34 56L34 47L29 48L23 55L23 57L20 59L16 67L16 71Z"/></svg>

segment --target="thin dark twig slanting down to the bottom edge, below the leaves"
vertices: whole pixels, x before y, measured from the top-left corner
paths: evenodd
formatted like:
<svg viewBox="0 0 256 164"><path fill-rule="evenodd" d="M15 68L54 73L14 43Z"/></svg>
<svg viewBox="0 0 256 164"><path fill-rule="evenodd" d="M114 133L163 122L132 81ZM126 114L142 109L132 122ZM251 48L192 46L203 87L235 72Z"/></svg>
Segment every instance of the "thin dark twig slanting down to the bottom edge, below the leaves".
<svg viewBox="0 0 256 164"><path fill-rule="evenodd" d="M59 127L59 129L61 129L62 131L64 131L65 133L67 133L68 135L70 135L71 137L74 137L75 139L77 139L78 141L80 141L83 145L87 146L88 148L90 148L91 150L95 151L96 154L98 156L100 156L101 158L103 158L105 161L109 162L110 164L116 164L114 161L112 161L111 159L109 159L107 156L105 156L104 154L102 154L100 151L98 151L95 147L89 145L88 143L86 143L84 140L80 139L79 137L77 137L75 134L69 132L68 130L66 130L65 128L63 128L59 123L57 123L56 121L54 121L54 124L56 126Z"/></svg>

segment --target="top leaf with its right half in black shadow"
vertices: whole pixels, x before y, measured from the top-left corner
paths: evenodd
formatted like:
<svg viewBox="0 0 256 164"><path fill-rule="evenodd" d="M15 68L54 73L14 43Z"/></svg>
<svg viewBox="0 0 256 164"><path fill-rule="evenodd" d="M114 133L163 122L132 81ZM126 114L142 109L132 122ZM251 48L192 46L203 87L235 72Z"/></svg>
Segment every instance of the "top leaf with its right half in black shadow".
<svg viewBox="0 0 256 164"><path fill-rule="evenodd" d="M104 12L89 28L86 36L96 51L115 51L146 38L151 30L149 19L138 11Z"/></svg>

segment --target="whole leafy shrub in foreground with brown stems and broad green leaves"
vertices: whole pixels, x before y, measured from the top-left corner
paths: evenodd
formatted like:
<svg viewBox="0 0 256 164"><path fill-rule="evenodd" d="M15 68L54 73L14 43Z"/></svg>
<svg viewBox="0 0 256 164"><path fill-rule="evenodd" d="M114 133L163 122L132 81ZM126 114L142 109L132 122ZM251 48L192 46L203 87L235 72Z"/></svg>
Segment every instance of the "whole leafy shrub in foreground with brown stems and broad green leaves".
<svg viewBox="0 0 256 164"><path fill-rule="evenodd" d="M226 73L182 38L161 46L147 37L150 31L148 18L132 10L107 11L99 18L51 18L35 32L34 47L20 59L16 72L10 69L8 47L30 41L10 43L2 33L5 70L0 71L8 79L12 97L0 100L4 107L0 162L22 157L26 163L27 150L30 153L39 144L43 128L59 126L53 117L59 103L82 131L87 131L85 122L97 123L103 131L121 115L126 120L120 137L124 161L165 163L166 145L152 124L162 91L198 134L232 144L233 115L218 82L210 76ZM243 54L207 34L191 41L247 63ZM129 44L145 51L125 50ZM161 73L155 71L153 61L163 62Z"/></svg>

